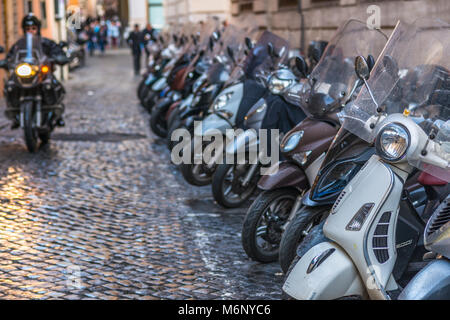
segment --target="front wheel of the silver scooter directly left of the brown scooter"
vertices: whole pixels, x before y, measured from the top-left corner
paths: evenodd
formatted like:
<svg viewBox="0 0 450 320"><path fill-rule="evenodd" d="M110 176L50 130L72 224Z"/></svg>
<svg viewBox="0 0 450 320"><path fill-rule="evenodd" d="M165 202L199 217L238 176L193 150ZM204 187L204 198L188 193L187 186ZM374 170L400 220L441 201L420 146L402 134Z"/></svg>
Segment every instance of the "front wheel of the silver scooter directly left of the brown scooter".
<svg viewBox="0 0 450 320"><path fill-rule="evenodd" d="M232 175L232 184L235 183L235 176L238 174L238 179L243 177L244 170L237 171L235 170L237 166L240 165L233 165L233 164L220 164L217 166L216 171L214 172L213 179L212 179L212 194L214 197L214 200L218 204L220 204L222 207L225 208L238 208L241 205L243 205L253 194L253 192L256 189L257 181L250 181L248 186L242 190L242 192L239 192L239 195L236 199L232 199L231 197L228 197L228 194L232 191L232 187L225 187L225 182L229 180L229 175ZM248 165L246 165L246 170L248 170ZM232 172L231 172L232 170ZM245 173L244 173L245 174ZM255 175L257 176L257 175ZM237 195L237 193L235 193Z"/></svg>

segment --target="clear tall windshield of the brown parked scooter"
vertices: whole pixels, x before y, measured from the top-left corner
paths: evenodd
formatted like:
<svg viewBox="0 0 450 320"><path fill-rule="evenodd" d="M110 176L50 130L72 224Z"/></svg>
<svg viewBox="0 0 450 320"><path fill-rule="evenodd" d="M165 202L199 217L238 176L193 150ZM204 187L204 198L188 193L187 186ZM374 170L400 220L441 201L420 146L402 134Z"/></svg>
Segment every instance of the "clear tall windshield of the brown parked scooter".
<svg viewBox="0 0 450 320"><path fill-rule="evenodd" d="M300 93L305 111L313 116L336 112L358 80L355 57L370 54L376 59L386 41L384 33L361 21L349 20L342 25L311 72L310 87L305 86L306 91Z"/></svg>

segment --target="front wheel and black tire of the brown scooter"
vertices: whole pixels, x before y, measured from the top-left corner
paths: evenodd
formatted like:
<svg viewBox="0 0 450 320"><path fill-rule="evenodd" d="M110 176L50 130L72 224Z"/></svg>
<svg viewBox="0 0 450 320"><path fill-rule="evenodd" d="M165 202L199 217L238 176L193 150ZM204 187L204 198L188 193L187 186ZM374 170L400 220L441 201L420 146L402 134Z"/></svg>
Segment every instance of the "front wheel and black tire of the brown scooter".
<svg viewBox="0 0 450 320"><path fill-rule="evenodd" d="M242 246L252 260L268 263L278 259L282 226L287 222L299 194L295 188L264 191L250 206L242 226ZM280 212L266 216L269 210L276 209Z"/></svg>

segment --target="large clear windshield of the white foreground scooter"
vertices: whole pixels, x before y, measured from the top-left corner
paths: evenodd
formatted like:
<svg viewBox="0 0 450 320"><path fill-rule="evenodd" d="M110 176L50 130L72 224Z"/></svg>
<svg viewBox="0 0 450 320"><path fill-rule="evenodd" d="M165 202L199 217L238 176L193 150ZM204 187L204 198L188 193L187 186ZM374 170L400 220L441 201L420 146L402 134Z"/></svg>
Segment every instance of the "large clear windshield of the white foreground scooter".
<svg viewBox="0 0 450 320"><path fill-rule="evenodd" d="M374 99L364 87L357 99L341 113L344 127L360 138L373 142L377 123L387 115L404 113L412 117L426 134L434 130L433 141L437 144L433 152L447 161L448 168L449 36L450 25L440 20L420 19L412 25L399 22L368 80ZM419 160L410 160L410 164L437 175L437 168L429 164ZM437 176L442 178L442 172Z"/></svg>

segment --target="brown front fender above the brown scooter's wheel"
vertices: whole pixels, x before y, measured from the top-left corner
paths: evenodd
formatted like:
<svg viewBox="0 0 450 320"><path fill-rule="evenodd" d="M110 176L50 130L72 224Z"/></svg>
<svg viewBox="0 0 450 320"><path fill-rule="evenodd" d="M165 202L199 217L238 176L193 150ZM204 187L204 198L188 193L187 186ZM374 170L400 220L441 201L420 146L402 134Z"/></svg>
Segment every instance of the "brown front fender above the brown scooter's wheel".
<svg viewBox="0 0 450 320"><path fill-rule="evenodd" d="M274 174L263 175L258 182L258 188L262 190L274 190L284 187L295 187L300 190L309 187L305 172L295 163L282 161L274 164L269 172Z"/></svg>

